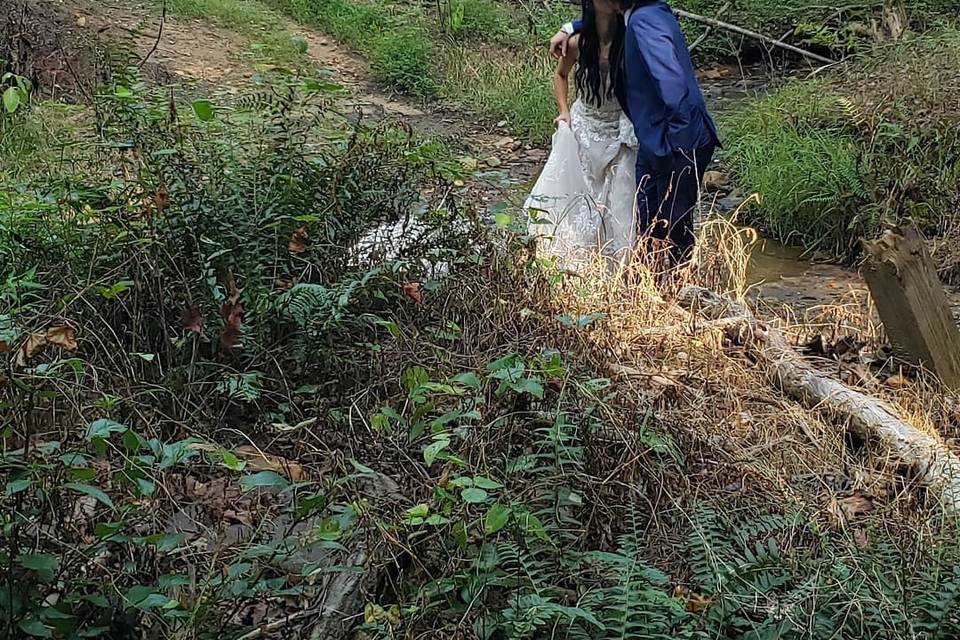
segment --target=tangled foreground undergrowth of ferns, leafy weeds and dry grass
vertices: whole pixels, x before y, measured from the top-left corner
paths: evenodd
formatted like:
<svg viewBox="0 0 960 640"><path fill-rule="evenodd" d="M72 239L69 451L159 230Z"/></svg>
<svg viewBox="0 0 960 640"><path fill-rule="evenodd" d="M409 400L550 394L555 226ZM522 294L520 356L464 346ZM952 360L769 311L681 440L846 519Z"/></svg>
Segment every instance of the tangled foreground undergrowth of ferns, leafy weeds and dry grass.
<svg viewBox="0 0 960 640"><path fill-rule="evenodd" d="M0 116L11 164L83 149L0 175L2 637L958 633L954 525L883 452L649 272L461 212L409 129L287 74L46 108Z"/></svg>

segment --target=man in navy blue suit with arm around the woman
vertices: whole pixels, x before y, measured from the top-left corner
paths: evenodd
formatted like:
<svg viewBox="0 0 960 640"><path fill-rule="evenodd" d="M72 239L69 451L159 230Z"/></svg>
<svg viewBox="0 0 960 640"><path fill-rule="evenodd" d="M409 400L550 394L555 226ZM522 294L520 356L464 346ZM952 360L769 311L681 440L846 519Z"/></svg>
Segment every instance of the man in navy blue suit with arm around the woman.
<svg viewBox="0 0 960 640"><path fill-rule="evenodd" d="M617 97L639 142L637 221L641 232L667 242L677 266L693 251L694 209L720 142L670 6L663 0L617 1L626 22ZM567 39L580 27L580 21L568 23L553 37L554 56L565 53Z"/></svg>

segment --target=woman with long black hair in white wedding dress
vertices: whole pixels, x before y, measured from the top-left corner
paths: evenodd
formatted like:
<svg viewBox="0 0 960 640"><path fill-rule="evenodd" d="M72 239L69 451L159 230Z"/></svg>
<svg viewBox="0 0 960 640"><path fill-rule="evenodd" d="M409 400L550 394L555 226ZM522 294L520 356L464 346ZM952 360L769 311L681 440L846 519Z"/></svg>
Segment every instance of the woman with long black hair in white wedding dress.
<svg viewBox="0 0 960 640"><path fill-rule="evenodd" d="M583 0L583 28L554 74L557 131L526 208L541 249L566 267L597 255L624 265L636 242L637 139L615 95L623 41L614 0ZM574 66L577 100L568 108Z"/></svg>

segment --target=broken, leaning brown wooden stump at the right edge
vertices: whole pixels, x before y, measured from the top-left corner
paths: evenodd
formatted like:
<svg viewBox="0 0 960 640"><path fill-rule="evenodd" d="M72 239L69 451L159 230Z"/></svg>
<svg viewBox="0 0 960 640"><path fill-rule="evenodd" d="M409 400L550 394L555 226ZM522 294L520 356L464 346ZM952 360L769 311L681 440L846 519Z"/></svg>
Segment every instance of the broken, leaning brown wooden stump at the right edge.
<svg viewBox="0 0 960 640"><path fill-rule="evenodd" d="M960 329L920 231L906 225L863 246L864 277L897 356L960 389Z"/></svg>

